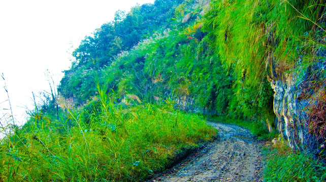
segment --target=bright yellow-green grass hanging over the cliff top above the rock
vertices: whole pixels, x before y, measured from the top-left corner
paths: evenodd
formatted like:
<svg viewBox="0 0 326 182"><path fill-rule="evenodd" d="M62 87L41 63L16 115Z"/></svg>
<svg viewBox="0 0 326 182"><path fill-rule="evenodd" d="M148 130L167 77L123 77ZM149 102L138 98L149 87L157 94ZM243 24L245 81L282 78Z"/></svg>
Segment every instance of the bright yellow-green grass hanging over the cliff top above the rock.
<svg viewBox="0 0 326 182"><path fill-rule="evenodd" d="M239 77L246 70L248 81L257 83L270 61L289 63L299 55L313 61L314 52L307 49L322 46L313 39L314 32L325 33L320 27L325 25L318 25L317 30L315 23L322 16L324 4L324 1L214 1L206 15L206 24L216 35L222 61L228 67L237 64L234 68ZM314 47L309 41L316 43Z"/></svg>

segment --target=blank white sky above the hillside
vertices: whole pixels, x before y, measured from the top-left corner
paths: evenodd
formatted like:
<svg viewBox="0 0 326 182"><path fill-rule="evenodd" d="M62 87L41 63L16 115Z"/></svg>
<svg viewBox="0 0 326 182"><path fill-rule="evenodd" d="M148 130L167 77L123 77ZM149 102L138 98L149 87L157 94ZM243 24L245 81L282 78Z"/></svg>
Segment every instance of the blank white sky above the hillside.
<svg viewBox="0 0 326 182"><path fill-rule="evenodd" d="M80 41L117 10L129 11L154 0L0 0L0 74L4 73L13 115L22 123L25 107L33 109L31 92L49 90L45 72L58 83L71 66ZM9 103L0 77L0 118ZM8 115L7 115L8 116Z"/></svg>

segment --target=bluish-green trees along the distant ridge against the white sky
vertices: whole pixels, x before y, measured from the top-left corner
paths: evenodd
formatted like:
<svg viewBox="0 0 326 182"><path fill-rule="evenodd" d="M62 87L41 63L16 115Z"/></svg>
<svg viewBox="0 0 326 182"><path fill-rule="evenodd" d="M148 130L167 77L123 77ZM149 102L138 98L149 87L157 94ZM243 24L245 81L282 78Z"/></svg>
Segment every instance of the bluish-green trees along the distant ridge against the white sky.
<svg viewBox="0 0 326 182"><path fill-rule="evenodd" d="M136 6L128 13L117 12L115 21L103 24L92 36L86 36L73 52L72 68L64 71L59 87L62 96L85 104L94 96L95 85L89 79L94 72L101 78L105 77L102 69L109 66L118 54L132 49L159 27L168 26L175 7L182 2L157 0L154 4Z"/></svg>

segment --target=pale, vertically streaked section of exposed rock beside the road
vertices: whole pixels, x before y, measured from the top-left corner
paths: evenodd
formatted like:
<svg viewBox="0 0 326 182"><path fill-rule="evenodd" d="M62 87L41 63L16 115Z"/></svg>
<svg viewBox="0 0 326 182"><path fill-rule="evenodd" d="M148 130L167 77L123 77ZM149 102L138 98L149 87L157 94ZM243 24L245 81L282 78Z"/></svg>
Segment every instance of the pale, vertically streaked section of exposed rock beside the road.
<svg viewBox="0 0 326 182"><path fill-rule="evenodd" d="M289 141L292 148L304 149L305 141L309 141L306 128L305 107L308 102L298 101L301 94L300 83L296 83L294 75L286 75L285 80L273 80L271 86L274 94L274 112L277 116L276 126L281 136ZM299 92L298 92L299 91Z"/></svg>

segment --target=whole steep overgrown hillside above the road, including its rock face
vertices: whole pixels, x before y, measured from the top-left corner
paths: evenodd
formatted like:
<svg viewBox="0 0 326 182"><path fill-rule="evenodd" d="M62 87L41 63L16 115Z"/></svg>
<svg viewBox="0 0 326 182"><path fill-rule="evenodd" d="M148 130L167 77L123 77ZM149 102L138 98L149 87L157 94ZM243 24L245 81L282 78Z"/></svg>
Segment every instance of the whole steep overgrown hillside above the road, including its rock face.
<svg viewBox="0 0 326 182"><path fill-rule="evenodd" d="M250 118L277 128L291 147L319 153L324 4L157 1L117 12L74 52L59 90L83 105L96 95L96 78L118 102L171 98L184 110Z"/></svg>

